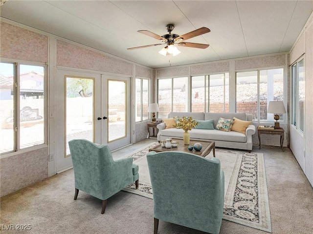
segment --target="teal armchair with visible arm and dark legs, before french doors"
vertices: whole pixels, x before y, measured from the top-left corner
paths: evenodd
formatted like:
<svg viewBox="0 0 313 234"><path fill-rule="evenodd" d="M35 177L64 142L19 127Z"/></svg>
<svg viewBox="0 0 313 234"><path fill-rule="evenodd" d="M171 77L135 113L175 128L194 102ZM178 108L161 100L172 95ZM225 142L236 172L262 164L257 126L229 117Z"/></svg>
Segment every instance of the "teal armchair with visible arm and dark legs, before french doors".
<svg viewBox="0 0 313 234"><path fill-rule="evenodd" d="M139 184L138 166L133 164L133 157L113 159L107 145L96 145L85 139L68 142L72 157L75 195L79 190L102 200L104 214L107 199L129 184Z"/></svg>

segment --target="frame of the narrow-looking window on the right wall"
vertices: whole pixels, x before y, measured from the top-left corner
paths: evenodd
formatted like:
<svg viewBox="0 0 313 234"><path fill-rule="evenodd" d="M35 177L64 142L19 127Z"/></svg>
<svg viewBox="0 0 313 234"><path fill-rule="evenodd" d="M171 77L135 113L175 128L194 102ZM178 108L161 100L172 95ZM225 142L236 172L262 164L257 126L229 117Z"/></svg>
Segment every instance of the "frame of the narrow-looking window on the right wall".
<svg viewBox="0 0 313 234"><path fill-rule="evenodd" d="M305 129L305 96L304 96L304 103L303 103L303 130L300 128L300 115L299 115L299 63L303 62L303 77L304 81L306 80L305 74L305 56L302 55L296 61L294 61L290 65L290 111L291 111L291 126L293 126L301 135L304 134ZM295 68L295 71L293 70ZM294 73L295 72L295 73Z"/></svg>

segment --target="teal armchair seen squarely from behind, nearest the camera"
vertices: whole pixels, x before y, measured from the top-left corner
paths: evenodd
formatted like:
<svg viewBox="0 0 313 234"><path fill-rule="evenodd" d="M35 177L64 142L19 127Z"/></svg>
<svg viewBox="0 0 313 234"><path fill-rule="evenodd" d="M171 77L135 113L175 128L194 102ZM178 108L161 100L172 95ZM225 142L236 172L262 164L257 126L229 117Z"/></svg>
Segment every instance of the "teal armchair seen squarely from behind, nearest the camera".
<svg viewBox="0 0 313 234"><path fill-rule="evenodd" d="M147 155L154 202L154 234L159 219L203 232L220 232L224 172L218 158L178 151Z"/></svg>

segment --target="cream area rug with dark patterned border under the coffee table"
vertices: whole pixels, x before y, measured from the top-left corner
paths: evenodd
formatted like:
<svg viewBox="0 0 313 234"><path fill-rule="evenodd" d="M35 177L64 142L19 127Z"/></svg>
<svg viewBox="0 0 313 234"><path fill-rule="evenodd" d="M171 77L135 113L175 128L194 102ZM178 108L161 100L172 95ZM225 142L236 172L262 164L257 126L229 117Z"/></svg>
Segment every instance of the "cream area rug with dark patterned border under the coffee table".
<svg viewBox="0 0 313 234"><path fill-rule="evenodd" d="M153 199L146 155L152 143L129 156L139 166L139 189L131 184L126 192ZM206 158L213 157L211 152ZM223 219L271 233L268 190L263 154L216 149L225 177Z"/></svg>

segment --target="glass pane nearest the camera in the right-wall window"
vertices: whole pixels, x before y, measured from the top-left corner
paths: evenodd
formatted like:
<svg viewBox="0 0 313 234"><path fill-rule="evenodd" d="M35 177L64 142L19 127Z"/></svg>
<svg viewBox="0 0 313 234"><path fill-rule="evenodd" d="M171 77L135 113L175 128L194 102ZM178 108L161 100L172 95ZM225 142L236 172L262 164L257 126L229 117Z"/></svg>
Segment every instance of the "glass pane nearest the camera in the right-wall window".
<svg viewBox="0 0 313 234"><path fill-rule="evenodd" d="M304 101L305 101L305 77L304 77L304 61L298 62L298 128L303 131L304 127Z"/></svg>

